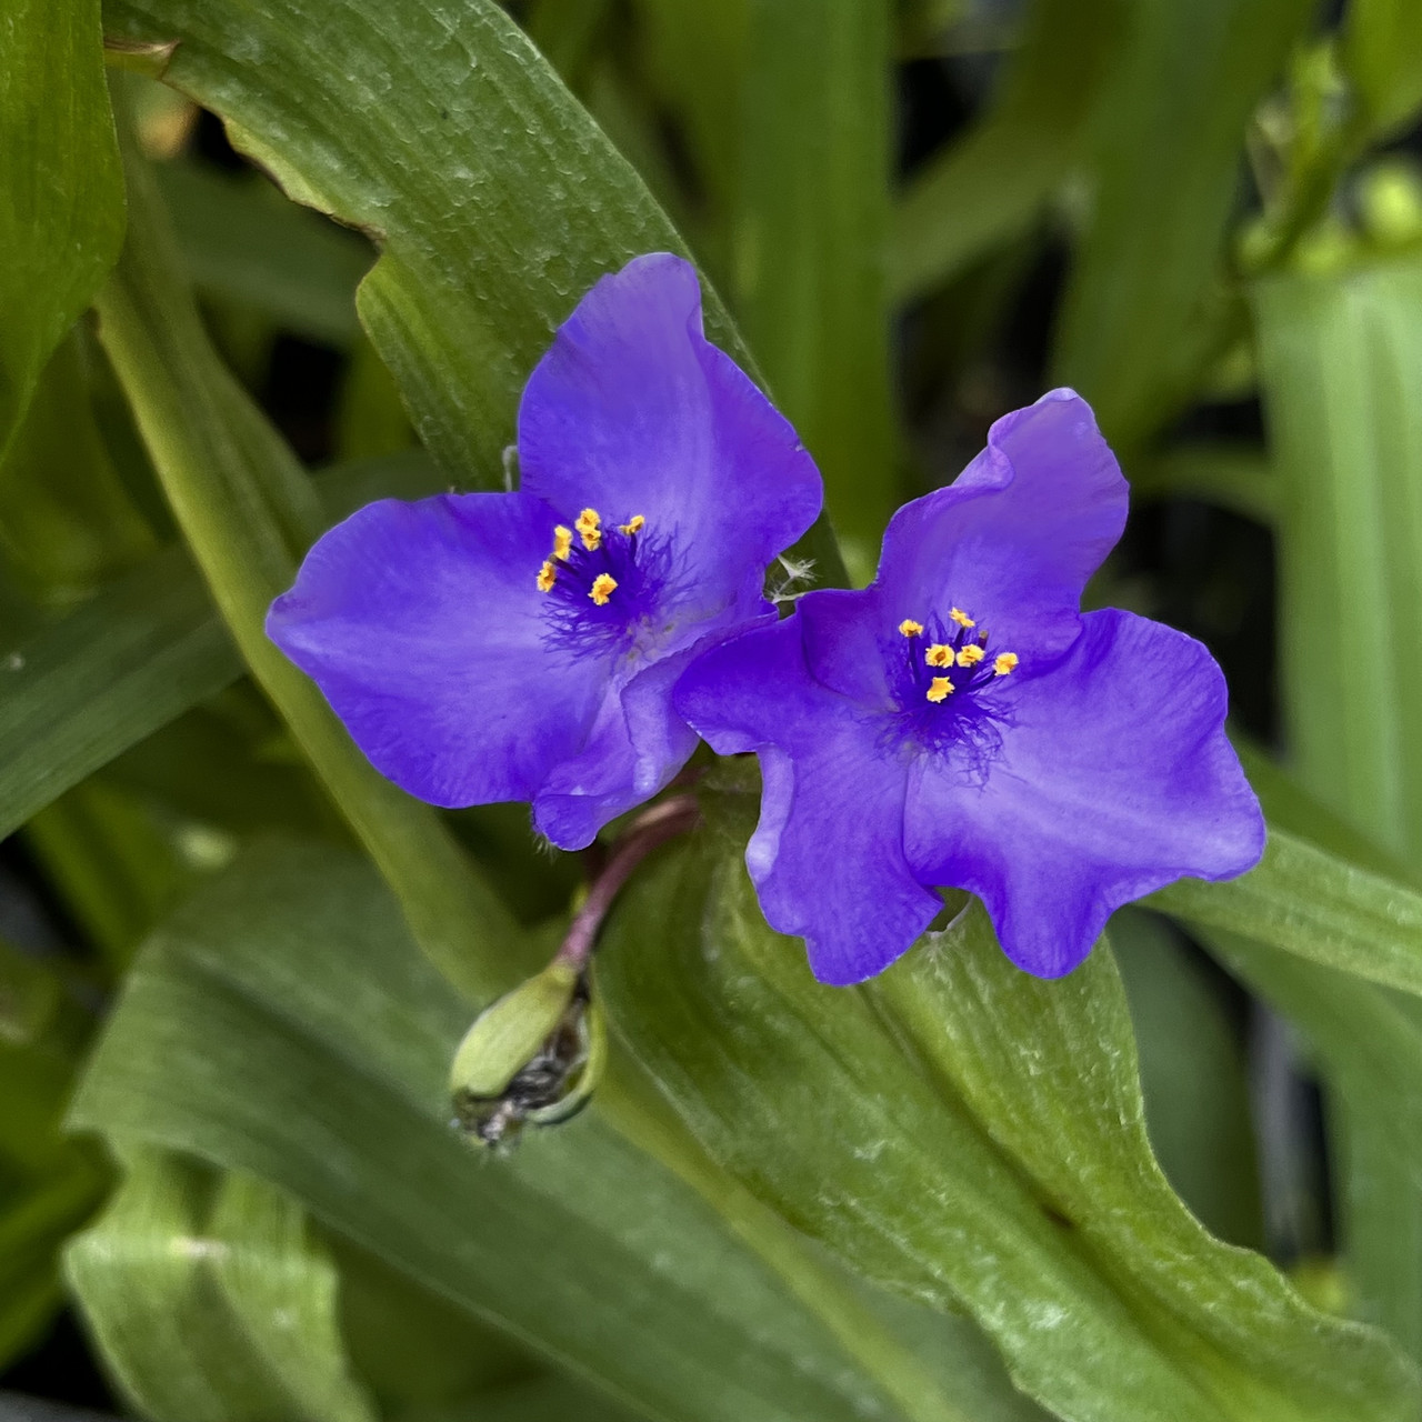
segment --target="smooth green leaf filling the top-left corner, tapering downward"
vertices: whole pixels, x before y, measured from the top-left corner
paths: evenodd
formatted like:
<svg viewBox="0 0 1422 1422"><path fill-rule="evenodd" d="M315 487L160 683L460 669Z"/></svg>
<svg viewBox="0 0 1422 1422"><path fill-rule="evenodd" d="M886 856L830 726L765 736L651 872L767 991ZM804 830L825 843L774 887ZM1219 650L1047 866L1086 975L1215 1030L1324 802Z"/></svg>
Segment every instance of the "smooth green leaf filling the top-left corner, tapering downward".
<svg viewBox="0 0 1422 1422"><path fill-rule="evenodd" d="M10 0L0 16L0 459L124 237L101 38L100 0Z"/></svg>

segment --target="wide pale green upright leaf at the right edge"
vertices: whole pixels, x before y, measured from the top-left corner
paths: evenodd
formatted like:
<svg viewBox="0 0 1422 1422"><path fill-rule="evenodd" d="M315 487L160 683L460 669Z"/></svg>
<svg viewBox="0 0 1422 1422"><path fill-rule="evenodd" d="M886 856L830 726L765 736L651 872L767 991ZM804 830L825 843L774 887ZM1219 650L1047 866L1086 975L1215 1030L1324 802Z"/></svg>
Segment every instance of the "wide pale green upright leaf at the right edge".
<svg viewBox="0 0 1422 1422"><path fill-rule="evenodd" d="M1284 720L1301 782L1422 856L1422 263L1254 293L1278 523ZM1347 677L1320 687L1320 647Z"/></svg>

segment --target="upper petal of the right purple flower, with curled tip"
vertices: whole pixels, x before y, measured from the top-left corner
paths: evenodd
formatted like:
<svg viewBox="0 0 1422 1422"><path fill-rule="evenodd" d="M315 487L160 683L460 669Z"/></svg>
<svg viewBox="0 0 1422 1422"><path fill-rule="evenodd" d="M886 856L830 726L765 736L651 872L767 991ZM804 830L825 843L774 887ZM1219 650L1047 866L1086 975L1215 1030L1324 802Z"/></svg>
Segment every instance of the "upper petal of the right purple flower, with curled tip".
<svg viewBox="0 0 1422 1422"><path fill-rule="evenodd" d="M1076 637L1082 589L1121 538L1126 495L1091 407L1049 391L998 419L948 488L893 516L863 616L887 637L906 617L961 607L1032 675ZM867 698L866 658L840 611L828 602L811 611L811 665L826 685Z"/></svg>

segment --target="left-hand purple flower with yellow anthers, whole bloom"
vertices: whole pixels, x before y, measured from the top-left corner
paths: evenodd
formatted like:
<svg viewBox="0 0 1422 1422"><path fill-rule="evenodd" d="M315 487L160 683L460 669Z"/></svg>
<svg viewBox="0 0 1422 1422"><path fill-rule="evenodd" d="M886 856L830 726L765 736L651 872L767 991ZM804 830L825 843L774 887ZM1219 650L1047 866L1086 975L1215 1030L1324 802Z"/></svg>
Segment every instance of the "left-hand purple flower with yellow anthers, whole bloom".
<svg viewBox="0 0 1422 1422"><path fill-rule="evenodd" d="M667 253L603 277L519 407L516 493L384 499L331 529L267 617L381 774L437 805L532 801L577 849L695 735L671 688L771 613L815 520L795 431L701 333Z"/></svg>

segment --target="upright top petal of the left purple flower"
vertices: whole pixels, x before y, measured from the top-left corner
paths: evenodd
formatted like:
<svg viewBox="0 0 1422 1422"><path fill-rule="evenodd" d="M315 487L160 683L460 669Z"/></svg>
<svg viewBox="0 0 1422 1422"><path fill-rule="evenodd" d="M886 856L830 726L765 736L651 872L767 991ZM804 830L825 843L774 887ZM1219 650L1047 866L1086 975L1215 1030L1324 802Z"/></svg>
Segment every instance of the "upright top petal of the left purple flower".
<svg viewBox="0 0 1422 1422"><path fill-rule="evenodd" d="M789 422L701 331L695 269L665 252L604 276L559 328L519 407L522 488L673 529L681 580L710 606L759 577L819 513L819 472Z"/></svg>

